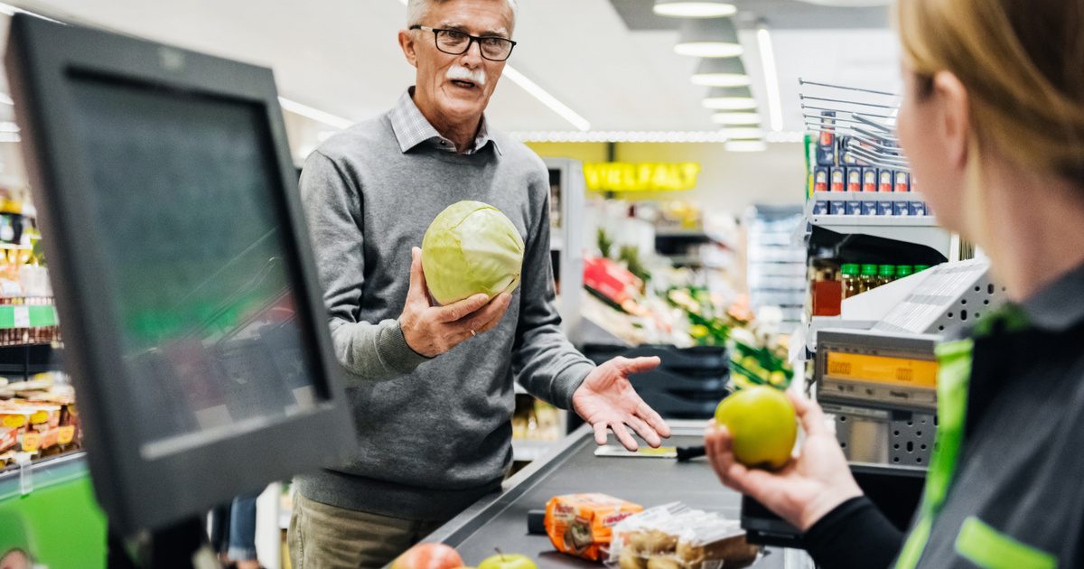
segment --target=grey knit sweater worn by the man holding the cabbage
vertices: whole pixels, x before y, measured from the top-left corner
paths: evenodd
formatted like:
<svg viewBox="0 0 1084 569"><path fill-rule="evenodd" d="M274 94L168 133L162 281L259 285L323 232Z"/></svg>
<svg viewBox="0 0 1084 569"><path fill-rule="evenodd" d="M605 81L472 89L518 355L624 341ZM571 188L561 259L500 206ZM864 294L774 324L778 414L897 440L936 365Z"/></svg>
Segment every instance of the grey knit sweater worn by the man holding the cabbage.
<svg viewBox="0 0 1084 569"><path fill-rule="evenodd" d="M302 171L358 447L349 464L299 476L297 487L334 506L443 520L496 490L509 466L513 374L567 409L592 364L562 334L554 307L544 164L501 134L473 154L447 152L437 139L412 139L401 115L330 139ZM462 199L498 207L519 230L522 281L496 328L428 360L410 349L397 321L411 247Z"/></svg>

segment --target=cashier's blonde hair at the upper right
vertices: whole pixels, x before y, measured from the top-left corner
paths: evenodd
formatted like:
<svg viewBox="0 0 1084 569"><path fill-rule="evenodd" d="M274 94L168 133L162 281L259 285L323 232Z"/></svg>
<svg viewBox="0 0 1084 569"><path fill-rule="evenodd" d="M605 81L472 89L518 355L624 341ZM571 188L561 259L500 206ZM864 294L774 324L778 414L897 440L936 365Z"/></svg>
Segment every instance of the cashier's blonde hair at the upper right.
<svg viewBox="0 0 1084 569"><path fill-rule="evenodd" d="M895 16L925 94L942 70L967 88L972 147L1084 189L1084 0L899 0Z"/></svg>

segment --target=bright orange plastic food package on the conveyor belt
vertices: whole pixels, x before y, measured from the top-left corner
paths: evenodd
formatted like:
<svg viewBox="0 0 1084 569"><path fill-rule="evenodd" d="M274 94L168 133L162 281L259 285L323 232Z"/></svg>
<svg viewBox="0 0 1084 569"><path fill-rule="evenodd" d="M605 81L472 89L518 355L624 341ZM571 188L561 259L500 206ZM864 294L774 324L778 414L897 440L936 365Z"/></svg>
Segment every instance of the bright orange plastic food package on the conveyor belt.
<svg viewBox="0 0 1084 569"><path fill-rule="evenodd" d="M597 561L607 555L614 526L643 510L606 494L554 496L545 505L545 531L558 552Z"/></svg>

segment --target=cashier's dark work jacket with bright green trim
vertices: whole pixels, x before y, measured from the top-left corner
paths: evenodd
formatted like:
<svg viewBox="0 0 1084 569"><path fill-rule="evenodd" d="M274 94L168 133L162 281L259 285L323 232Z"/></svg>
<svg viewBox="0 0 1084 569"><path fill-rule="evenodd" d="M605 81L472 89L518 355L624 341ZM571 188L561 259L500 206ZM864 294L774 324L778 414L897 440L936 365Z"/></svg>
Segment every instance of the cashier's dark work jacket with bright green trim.
<svg viewBox="0 0 1084 569"><path fill-rule="evenodd" d="M1084 567L1084 267L938 350L938 442L902 535L860 497L810 528L824 569Z"/></svg>

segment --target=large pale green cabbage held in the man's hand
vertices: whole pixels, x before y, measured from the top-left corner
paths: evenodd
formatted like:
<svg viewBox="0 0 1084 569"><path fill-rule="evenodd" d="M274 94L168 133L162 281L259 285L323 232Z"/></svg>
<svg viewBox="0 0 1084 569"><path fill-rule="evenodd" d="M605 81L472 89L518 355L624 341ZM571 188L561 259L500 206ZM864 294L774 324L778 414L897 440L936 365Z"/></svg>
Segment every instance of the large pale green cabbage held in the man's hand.
<svg viewBox="0 0 1084 569"><path fill-rule="evenodd" d="M519 286L524 240L500 209L481 202L448 206L422 240L422 270L441 305L478 293L493 298Z"/></svg>

